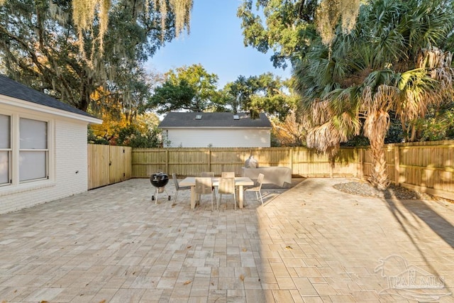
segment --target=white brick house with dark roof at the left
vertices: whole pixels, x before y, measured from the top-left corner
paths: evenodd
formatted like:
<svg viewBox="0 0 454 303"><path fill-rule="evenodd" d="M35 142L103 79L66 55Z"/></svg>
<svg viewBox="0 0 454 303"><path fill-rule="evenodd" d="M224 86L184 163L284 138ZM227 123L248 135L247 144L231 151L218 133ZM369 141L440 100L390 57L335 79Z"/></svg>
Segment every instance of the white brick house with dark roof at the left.
<svg viewBox="0 0 454 303"><path fill-rule="evenodd" d="M100 119L0 75L0 214L87 191Z"/></svg>

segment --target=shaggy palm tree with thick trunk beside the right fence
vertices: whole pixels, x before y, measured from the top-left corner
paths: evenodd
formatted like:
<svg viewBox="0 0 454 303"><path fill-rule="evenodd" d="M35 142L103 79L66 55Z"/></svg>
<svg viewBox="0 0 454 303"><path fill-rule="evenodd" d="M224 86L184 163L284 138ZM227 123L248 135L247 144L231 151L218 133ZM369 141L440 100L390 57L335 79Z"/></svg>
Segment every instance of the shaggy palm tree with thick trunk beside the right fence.
<svg viewBox="0 0 454 303"><path fill-rule="evenodd" d="M428 106L452 101L453 7L439 1L377 0L362 6L355 30L331 46L314 43L294 67L308 128L306 143L331 157L360 132L372 153L370 182L389 184L384 138L389 115L411 126Z"/></svg>

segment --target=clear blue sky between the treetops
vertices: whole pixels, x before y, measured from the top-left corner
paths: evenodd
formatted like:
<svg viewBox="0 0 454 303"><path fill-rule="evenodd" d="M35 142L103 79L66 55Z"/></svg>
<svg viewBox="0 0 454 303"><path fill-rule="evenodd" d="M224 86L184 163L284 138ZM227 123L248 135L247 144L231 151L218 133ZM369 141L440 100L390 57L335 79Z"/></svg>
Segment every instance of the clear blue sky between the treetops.
<svg viewBox="0 0 454 303"><path fill-rule="evenodd" d="M290 77L290 70L275 69L271 53L262 54L245 47L240 18L236 10L242 0L194 0L191 32L167 43L148 60L149 72L201 64L209 73L218 75L218 87L245 77L272 72L282 78Z"/></svg>

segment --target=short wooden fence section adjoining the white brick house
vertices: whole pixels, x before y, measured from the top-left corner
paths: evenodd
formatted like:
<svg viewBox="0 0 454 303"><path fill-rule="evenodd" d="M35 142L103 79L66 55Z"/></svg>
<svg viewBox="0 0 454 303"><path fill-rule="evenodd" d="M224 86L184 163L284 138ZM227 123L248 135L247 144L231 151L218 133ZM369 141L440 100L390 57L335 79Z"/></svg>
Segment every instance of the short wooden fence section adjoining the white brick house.
<svg viewBox="0 0 454 303"><path fill-rule="evenodd" d="M88 145L88 189L131 179L132 148Z"/></svg>

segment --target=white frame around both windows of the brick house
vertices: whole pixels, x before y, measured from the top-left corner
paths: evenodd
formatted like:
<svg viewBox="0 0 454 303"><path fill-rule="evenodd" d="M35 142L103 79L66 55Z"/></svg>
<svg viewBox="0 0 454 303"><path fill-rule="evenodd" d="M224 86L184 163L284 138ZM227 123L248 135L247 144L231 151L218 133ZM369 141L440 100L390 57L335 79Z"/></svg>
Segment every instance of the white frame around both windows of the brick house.
<svg viewBox="0 0 454 303"><path fill-rule="evenodd" d="M30 189L30 187L34 187L35 185L40 186L42 184L47 184L53 180L53 170L54 170L54 162L55 162L55 155L53 153L53 138L54 138L54 125L55 122L52 119L48 119L45 116L40 115L31 115L31 114L23 114L18 112L5 112L1 113L2 115L10 117L10 148L9 149L0 149L1 151L7 150L9 151L9 177L10 182L0 184L0 190L4 191L9 189ZM30 119L40 122L46 123L47 134L46 134L46 147L47 148L30 148L30 149L21 149L21 134L20 134L20 121L21 119ZM45 153L45 176L31 179L31 180L23 180L21 181L21 176L19 173L19 165L21 159L21 152L44 152ZM6 192L6 193L7 193Z"/></svg>

